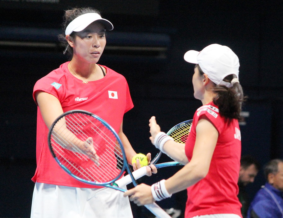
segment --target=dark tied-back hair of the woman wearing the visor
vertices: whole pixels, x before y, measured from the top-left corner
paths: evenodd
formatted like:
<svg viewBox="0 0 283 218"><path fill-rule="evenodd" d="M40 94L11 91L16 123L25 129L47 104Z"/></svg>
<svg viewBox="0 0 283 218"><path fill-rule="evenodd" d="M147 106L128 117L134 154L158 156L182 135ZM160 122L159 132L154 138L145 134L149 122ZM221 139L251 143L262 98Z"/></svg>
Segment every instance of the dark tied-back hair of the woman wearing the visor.
<svg viewBox="0 0 283 218"><path fill-rule="evenodd" d="M58 39L62 46L64 46L65 51L64 54L67 52L68 58L71 60L73 57L73 48L69 46L69 43L66 40L65 30L67 26L71 23L72 20L87 13L97 13L100 15L100 12L92 7L84 7L84 8L73 8L71 10L66 10L65 15L63 16L63 23L62 23L62 30L63 33L58 35ZM72 39L75 39L75 32L70 34Z"/></svg>

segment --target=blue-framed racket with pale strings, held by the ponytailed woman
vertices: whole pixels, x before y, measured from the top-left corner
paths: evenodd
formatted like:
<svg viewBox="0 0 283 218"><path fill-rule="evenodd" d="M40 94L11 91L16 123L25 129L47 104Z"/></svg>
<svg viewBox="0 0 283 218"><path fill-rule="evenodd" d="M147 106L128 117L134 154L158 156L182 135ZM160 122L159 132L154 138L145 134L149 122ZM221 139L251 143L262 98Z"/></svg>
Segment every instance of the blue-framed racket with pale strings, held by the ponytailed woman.
<svg viewBox="0 0 283 218"><path fill-rule="evenodd" d="M118 134L90 112L73 110L59 116L49 130L48 145L63 170L81 182L126 192L114 182L127 170L137 185ZM145 207L159 218L171 217L156 203Z"/></svg>

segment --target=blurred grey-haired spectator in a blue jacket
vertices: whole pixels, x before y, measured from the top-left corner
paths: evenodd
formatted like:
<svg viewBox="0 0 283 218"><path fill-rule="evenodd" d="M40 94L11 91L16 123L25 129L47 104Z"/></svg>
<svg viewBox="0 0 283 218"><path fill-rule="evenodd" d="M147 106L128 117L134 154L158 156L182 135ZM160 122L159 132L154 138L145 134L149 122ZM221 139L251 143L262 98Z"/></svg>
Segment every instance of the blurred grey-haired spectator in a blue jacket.
<svg viewBox="0 0 283 218"><path fill-rule="evenodd" d="M248 218L281 218L283 216L283 160L274 159L264 167L267 183L254 197Z"/></svg>

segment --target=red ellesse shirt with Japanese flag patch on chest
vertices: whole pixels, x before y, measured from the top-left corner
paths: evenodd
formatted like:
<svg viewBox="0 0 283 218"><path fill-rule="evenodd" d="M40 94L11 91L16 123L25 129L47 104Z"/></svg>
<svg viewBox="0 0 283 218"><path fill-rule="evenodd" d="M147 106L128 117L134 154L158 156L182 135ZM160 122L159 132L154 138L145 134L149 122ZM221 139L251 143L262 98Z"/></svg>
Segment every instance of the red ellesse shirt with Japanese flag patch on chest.
<svg viewBox="0 0 283 218"><path fill-rule="evenodd" d="M39 79L34 85L35 92L42 90L59 99L63 111L85 110L101 117L118 133L124 113L134 107L129 87L124 76L106 66L102 79L87 84L74 77L68 70L68 63ZM32 178L34 182L65 185L80 188L98 188L80 182L68 175L57 164L48 148L48 128L38 108L36 162L37 168ZM100 187L99 187L100 188Z"/></svg>

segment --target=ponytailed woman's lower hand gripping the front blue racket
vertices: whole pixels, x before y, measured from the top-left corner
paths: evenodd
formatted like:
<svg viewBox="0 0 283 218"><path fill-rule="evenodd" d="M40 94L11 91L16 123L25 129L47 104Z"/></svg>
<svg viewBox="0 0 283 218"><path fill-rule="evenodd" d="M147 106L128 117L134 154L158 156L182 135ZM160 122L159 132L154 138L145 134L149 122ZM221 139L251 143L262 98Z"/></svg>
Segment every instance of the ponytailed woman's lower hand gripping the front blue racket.
<svg viewBox="0 0 283 218"><path fill-rule="evenodd" d="M124 197L129 196L129 200L142 206L145 204L152 204L155 202L151 194L151 186L146 184L137 185L135 188L132 188L124 193Z"/></svg>

